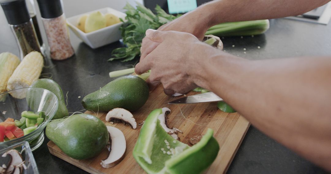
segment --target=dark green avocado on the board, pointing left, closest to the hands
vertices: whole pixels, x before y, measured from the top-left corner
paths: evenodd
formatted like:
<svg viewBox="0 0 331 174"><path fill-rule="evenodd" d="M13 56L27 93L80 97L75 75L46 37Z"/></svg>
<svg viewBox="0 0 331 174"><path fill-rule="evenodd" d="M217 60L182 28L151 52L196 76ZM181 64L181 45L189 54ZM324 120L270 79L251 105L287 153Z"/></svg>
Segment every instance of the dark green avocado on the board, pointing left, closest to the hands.
<svg viewBox="0 0 331 174"><path fill-rule="evenodd" d="M149 88L145 80L135 75L127 75L88 94L81 103L85 109L95 112L108 112L116 107L135 111L146 103L148 95Z"/></svg>

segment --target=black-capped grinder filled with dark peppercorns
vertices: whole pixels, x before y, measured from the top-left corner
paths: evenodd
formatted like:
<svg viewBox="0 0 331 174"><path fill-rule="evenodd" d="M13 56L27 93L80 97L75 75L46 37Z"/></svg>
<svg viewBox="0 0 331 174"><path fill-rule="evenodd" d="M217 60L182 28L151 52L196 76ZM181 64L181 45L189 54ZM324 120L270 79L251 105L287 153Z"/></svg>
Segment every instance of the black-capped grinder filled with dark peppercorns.
<svg viewBox="0 0 331 174"><path fill-rule="evenodd" d="M21 60L31 51L40 52L40 44L26 8L25 0L3 0L0 4L15 35Z"/></svg>

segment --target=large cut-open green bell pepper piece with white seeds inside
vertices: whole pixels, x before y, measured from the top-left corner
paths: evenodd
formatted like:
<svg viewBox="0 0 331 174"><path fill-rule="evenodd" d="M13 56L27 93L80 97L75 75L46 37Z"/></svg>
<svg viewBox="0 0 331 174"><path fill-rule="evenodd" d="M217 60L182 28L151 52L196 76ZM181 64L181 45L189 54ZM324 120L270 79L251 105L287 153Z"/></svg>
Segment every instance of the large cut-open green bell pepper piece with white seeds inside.
<svg viewBox="0 0 331 174"><path fill-rule="evenodd" d="M138 164L150 174L201 173L207 169L219 151L213 130L208 129L197 144L189 147L162 128L158 119L160 114L162 109L153 110L140 130L133 149L133 157Z"/></svg>

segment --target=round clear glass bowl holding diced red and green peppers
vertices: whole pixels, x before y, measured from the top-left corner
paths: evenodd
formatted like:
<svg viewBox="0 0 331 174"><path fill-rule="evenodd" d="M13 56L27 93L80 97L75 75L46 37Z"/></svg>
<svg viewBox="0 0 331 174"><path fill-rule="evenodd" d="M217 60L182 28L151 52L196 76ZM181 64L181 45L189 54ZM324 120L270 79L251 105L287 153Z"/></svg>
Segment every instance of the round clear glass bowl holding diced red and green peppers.
<svg viewBox="0 0 331 174"><path fill-rule="evenodd" d="M12 97L11 93L16 93L21 99ZM15 120L21 119L23 111L44 112L44 121L31 133L10 141L0 142L0 149L12 146L22 141L27 141L31 150L36 150L44 141L43 130L52 120L58 109L58 99L54 93L43 88L21 88L0 94L0 122L7 118Z"/></svg>

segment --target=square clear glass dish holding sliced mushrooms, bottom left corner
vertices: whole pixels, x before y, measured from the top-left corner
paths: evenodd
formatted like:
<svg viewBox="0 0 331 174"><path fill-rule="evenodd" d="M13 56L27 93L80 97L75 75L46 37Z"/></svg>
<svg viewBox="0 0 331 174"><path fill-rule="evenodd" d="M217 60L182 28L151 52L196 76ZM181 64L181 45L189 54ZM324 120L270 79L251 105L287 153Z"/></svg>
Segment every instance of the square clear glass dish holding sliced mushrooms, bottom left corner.
<svg viewBox="0 0 331 174"><path fill-rule="evenodd" d="M26 169L23 170L22 174L39 174L38 167L36 161L33 158L32 151L30 149L29 143L27 141L22 141L13 146L7 147L5 149L0 150L0 165L7 165L10 161L10 157L1 157L4 153L9 150L16 149L21 154Z"/></svg>

